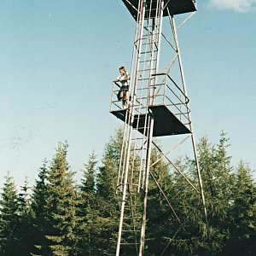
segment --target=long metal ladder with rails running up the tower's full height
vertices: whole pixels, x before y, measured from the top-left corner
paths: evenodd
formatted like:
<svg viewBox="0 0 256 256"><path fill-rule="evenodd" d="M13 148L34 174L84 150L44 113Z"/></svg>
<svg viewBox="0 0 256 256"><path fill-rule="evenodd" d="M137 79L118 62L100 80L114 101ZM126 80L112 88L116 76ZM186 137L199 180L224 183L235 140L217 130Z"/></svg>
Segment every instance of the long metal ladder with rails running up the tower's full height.
<svg viewBox="0 0 256 256"><path fill-rule="evenodd" d="M121 196L116 255L143 255L163 1L140 1L134 44L131 108L125 113L117 193ZM154 16L151 16L154 14Z"/></svg>

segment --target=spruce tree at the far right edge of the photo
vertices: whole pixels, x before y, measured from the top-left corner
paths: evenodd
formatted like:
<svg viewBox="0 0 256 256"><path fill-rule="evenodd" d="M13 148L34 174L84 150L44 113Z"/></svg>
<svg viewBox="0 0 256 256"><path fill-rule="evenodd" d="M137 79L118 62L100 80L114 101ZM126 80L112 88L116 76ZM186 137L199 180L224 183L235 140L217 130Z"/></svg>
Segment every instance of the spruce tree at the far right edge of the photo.
<svg viewBox="0 0 256 256"><path fill-rule="evenodd" d="M224 255L255 255L256 184L251 169L242 161L237 167L234 190L230 210L231 238Z"/></svg>

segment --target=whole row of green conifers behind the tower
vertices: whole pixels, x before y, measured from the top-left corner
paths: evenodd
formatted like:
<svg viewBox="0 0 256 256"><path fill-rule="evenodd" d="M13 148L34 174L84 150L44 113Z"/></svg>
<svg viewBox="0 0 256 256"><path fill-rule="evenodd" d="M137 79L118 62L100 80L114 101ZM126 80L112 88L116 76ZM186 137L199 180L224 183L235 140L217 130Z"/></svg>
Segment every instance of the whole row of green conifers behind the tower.
<svg viewBox="0 0 256 256"><path fill-rule="evenodd" d="M58 143L51 160L38 163L33 188L20 188L11 173L0 195L0 255L114 255L119 227L116 180L121 129L105 144L102 156L91 153L83 178L74 179L67 162L68 144ZM175 207L183 229L155 184L148 191L144 255L256 255L256 184L253 170L242 160L231 165L229 138L220 134L212 144L197 144L206 197L212 249L198 195L165 160L154 166L154 176ZM158 157L153 150L152 157ZM196 179L195 163L178 157L176 166ZM188 172L189 171L189 172ZM81 170L79 172L82 172ZM177 232L178 230L178 232ZM129 253L124 255L132 256Z"/></svg>

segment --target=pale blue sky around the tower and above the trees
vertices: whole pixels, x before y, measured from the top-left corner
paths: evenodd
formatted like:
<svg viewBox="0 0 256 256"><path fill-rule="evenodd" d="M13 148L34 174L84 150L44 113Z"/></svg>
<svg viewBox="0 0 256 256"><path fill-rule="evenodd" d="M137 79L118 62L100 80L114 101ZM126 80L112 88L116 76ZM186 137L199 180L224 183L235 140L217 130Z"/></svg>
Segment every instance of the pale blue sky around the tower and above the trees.
<svg viewBox="0 0 256 256"><path fill-rule="evenodd" d="M232 4L230 4L232 3ZM178 32L195 137L230 137L232 163L256 169L256 4L198 1ZM0 187L34 183L58 142L79 172L121 123L109 113L118 67L131 67L135 21L120 0L0 2Z"/></svg>

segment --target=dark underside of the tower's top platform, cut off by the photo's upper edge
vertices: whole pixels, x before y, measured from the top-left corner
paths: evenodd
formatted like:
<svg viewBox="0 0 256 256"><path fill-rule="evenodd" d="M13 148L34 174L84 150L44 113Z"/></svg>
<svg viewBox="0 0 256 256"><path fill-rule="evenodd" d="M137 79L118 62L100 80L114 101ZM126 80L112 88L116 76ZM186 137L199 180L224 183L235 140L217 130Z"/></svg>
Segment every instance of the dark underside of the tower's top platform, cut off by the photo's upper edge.
<svg viewBox="0 0 256 256"><path fill-rule="evenodd" d="M139 0L122 0L126 8L130 11L132 17L137 20L137 9ZM145 17L154 17L156 5L158 1L145 0L146 14ZM165 0L164 16L168 16L167 9L170 10L170 15L180 15L190 12L195 12L195 0ZM150 9L150 10L149 10Z"/></svg>

